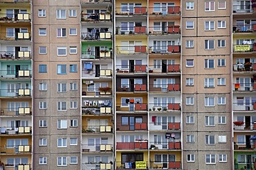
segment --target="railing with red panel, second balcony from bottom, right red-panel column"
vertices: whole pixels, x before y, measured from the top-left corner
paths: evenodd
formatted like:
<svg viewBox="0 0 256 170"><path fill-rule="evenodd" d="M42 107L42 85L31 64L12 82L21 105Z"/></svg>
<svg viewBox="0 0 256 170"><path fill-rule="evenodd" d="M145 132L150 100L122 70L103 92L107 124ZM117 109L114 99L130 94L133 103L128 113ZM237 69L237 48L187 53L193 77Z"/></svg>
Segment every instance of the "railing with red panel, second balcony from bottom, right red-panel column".
<svg viewBox="0 0 256 170"><path fill-rule="evenodd" d="M150 150L181 149L181 142L149 142Z"/></svg>

